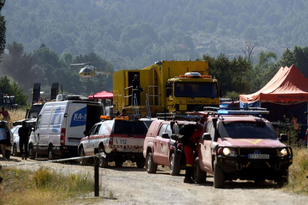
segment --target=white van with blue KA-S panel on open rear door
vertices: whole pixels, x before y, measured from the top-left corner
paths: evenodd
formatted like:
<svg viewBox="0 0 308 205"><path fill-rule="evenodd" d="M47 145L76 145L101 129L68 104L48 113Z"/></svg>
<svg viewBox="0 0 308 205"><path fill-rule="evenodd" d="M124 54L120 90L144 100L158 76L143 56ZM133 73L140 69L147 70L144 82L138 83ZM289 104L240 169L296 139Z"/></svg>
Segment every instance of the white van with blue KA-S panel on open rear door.
<svg viewBox="0 0 308 205"><path fill-rule="evenodd" d="M100 122L103 105L88 101L59 101L45 103L37 118L29 140L29 158L36 154L55 156L78 155L78 145L90 130Z"/></svg>

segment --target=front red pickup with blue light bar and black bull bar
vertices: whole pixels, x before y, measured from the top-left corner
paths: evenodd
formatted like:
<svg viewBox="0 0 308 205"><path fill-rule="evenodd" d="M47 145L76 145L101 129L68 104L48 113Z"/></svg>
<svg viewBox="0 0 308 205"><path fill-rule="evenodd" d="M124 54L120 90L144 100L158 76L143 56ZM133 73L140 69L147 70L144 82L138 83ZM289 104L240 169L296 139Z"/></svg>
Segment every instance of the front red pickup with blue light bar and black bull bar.
<svg viewBox="0 0 308 205"><path fill-rule="evenodd" d="M277 182L278 187L288 182L292 150L282 143L287 136L278 137L268 120L251 116L250 112L220 110L218 116L207 116L204 134L197 143L197 183L205 182L207 172L214 175L215 188L235 179L269 179Z"/></svg>

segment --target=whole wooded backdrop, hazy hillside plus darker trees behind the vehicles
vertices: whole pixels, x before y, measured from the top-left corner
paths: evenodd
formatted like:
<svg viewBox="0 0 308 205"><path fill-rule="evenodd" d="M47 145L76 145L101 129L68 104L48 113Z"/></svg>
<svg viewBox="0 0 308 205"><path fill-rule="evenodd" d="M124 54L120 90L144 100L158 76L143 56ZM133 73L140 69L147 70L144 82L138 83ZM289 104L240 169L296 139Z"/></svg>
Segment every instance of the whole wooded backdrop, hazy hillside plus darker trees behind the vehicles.
<svg viewBox="0 0 308 205"><path fill-rule="evenodd" d="M210 62L224 94L237 96L261 88L280 66L294 63L308 77L307 7L305 0L6 1L0 74L29 95L34 81L42 91L59 82L65 93L88 95L111 91L112 79L82 83L83 66L71 63L120 60L110 63L113 72L198 58ZM245 39L258 42L254 61L242 55Z"/></svg>

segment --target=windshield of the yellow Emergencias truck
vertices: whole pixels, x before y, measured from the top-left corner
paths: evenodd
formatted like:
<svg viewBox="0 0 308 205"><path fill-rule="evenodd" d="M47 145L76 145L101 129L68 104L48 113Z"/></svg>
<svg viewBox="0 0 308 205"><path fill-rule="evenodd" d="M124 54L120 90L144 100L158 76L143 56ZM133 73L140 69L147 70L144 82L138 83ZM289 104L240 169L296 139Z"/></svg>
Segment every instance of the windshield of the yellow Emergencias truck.
<svg viewBox="0 0 308 205"><path fill-rule="evenodd" d="M213 82L176 82L175 97L218 97L217 83Z"/></svg>

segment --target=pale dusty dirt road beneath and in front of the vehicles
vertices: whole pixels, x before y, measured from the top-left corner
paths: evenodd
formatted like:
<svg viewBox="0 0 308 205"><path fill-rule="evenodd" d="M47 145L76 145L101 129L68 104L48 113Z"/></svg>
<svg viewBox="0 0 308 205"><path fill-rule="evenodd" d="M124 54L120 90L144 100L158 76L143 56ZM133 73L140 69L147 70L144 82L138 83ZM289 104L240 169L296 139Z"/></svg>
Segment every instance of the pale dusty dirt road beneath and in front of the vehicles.
<svg viewBox="0 0 308 205"><path fill-rule="evenodd" d="M0 161L0 164L21 162L19 157L11 157L10 160L14 161ZM32 160L27 162L30 161ZM22 168L37 169L40 166L42 165L23 165ZM64 173L94 173L94 168L91 166L59 163L45 163L44 166ZM237 181L226 183L224 189L215 189L212 176L208 175L207 183L204 184L184 184L183 174L171 176L165 170L166 168L159 166L156 174L148 174L145 169L136 167L99 168L102 187L112 191L116 199L101 198L95 200L95 204L303 205L308 202L307 196L277 189L274 183L257 186L252 182Z"/></svg>

